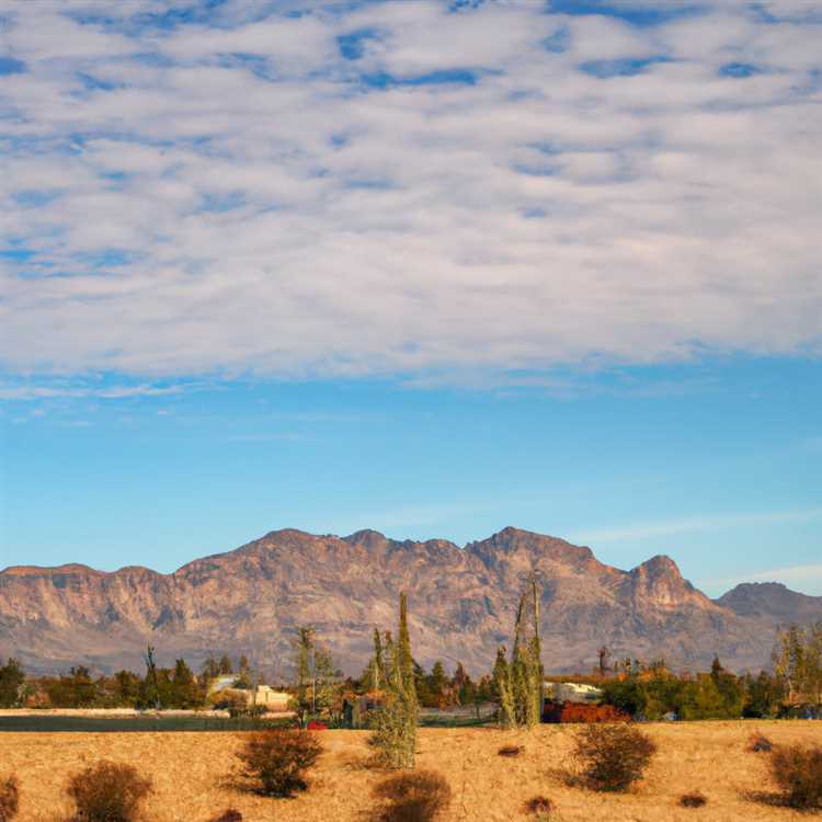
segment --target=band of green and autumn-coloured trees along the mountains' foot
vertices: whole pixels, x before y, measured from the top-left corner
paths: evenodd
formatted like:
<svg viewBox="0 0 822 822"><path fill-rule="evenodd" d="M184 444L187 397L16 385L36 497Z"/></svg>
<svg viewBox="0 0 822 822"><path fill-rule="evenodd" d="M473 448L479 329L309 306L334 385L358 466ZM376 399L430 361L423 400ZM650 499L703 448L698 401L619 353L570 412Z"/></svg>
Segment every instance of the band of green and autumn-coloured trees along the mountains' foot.
<svg viewBox="0 0 822 822"><path fill-rule="evenodd" d="M510 659L501 648L491 673L475 681L457 662L449 675L442 660L426 671L409 650L403 688L413 690L419 707L495 703L502 721L510 726L538 722L544 680L538 607L536 583L530 579L518 604ZM294 678L282 687L292 694L301 723L309 717L340 715L344 704L357 696L397 692L393 655L399 653L398 643L390 631L375 629L374 651L361 676L344 677L315 629L298 627L293 642ZM0 707L196 709L214 704L217 697L209 695L209 686L220 675L235 675L233 688L249 689L263 682L246 657L236 662L227 654L209 657L195 674L184 659L175 660L173 666L158 665L149 648L145 664L141 675L127 670L92 674L77 665L59 675L26 676L21 664L9 659L0 666ZM758 674L735 675L718 658L709 672L676 674L663 660L646 664L627 659L607 665L601 655L592 674L555 678L590 682L602 689L606 704L650 720L667 713L678 719L783 716L791 706L822 704L822 621L780 630L773 670Z"/></svg>

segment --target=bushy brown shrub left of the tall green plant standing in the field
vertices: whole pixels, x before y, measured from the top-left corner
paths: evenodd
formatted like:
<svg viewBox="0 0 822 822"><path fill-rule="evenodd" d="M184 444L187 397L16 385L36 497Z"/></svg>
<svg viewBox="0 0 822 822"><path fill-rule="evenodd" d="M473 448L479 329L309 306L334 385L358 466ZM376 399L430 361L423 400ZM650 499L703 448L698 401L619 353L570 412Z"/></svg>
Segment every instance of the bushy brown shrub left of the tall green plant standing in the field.
<svg viewBox="0 0 822 822"><path fill-rule="evenodd" d="M305 774L321 753L317 734L277 729L252 733L237 756L258 794L289 797L308 788Z"/></svg>

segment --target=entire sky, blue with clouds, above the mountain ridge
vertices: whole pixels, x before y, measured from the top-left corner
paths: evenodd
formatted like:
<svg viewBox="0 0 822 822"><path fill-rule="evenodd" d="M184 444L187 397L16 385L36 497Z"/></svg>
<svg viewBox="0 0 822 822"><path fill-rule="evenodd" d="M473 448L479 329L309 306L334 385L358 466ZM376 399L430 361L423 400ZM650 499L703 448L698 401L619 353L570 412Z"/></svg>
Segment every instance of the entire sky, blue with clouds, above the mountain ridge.
<svg viewBox="0 0 822 822"><path fill-rule="evenodd" d="M822 594L815 2L0 19L0 566L517 525Z"/></svg>

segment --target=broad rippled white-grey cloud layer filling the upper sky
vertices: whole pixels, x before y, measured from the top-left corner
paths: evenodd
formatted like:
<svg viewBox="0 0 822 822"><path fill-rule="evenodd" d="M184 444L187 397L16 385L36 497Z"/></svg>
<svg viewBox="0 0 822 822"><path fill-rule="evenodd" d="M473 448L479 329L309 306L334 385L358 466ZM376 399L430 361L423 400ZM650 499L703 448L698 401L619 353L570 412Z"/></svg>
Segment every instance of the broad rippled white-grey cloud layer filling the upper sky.
<svg viewBox="0 0 822 822"><path fill-rule="evenodd" d="M8 372L822 353L815 3L212 5L0 21Z"/></svg>

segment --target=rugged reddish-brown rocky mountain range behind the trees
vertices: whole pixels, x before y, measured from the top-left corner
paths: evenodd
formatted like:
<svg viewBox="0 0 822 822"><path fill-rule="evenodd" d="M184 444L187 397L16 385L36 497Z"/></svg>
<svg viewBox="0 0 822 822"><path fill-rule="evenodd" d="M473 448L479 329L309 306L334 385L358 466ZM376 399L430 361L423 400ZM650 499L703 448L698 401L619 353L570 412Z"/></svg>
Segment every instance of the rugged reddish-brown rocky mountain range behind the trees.
<svg viewBox="0 0 822 822"><path fill-rule="evenodd" d="M778 623L822 618L822 597L740 585L711 601L667 557L631 571L600 562L590 548L505 528L459 548L433 539L396 541L373 530L347 537L272 532L173 574L146 568L113 573L84 566L10 568L0 573L0 654L35 671L85 664L139 670L150 643L163 664L208 653L246 653L267 673L289 670L298 625L316 626L338 664L358 673L375 626L396 623L409 593L414 655L490 670L510 643L526 575L543 581L544 661L550 671L587 671L596 651L664 657L707 666L713 653L734 669L766 665ZM753 591L753 593L752 593Z"/></svg>

